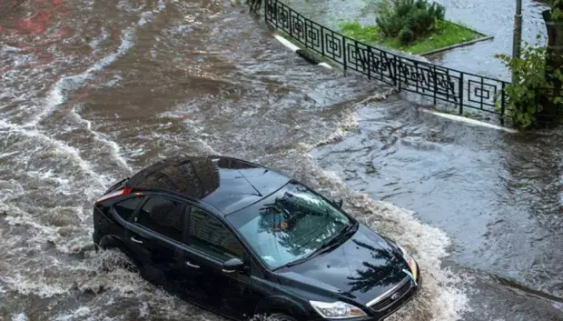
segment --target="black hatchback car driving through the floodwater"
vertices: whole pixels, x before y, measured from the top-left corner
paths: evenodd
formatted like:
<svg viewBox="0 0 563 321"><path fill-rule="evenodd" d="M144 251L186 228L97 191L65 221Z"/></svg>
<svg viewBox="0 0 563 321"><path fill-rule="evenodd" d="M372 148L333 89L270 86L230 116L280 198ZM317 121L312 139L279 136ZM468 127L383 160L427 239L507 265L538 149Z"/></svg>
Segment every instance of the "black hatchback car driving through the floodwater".
<svg viewBox="0 0 563 321"><path fill-rule="evenodd" d="M263 166L182 156L98 199L94 244L232 319L382 320L417 293L419 266L341 205Z"/></svg>

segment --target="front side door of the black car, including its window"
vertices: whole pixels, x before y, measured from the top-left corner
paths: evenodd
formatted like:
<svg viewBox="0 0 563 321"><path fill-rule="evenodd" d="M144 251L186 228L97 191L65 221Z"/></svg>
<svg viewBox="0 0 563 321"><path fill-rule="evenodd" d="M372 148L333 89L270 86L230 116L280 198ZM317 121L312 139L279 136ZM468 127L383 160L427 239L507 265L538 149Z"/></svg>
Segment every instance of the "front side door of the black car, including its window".
<svg viewBox="0 0 563 321"><path fill-rule="evenodd" d="M197 303L237 319L252 317L260 295L252 289L250 257L236 236L222 222L197 206L188 215L187 246L183 254L184 274ZM245 268L224 272L222 264L238 257ZM193 288L195 287L195 288Z"/></svg>

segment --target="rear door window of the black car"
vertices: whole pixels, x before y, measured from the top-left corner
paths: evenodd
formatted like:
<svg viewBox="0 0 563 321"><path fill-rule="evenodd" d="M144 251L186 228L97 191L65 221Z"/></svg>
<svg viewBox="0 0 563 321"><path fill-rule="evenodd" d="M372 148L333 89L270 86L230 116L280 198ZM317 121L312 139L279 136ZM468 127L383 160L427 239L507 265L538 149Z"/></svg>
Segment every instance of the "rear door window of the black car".
<svg viewBox="0 0 563 321"><path fill-rule="evenodd" d="M182 242L185 205L163 197L151 197L139 211L135 222L158 234Z"/></svg>

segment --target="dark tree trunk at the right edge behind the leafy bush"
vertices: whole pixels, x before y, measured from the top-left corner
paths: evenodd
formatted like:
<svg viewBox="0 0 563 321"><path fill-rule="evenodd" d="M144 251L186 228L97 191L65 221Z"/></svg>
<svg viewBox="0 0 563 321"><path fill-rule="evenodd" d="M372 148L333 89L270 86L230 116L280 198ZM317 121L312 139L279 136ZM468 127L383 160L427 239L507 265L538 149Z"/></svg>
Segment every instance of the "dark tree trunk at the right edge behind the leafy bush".
<svg viewBox="0 0 563 321"><path fill-rule="evenodd" d="M558 105L549 102L548 95L561 95L561 81L559 81L553 72L563 70L563 19L552 19L551 10L542 13L543 19L548 28L548 48L546 55L546 78L554 84L553 92L545 93L540 97L543 110L538 115L538 125L557 125L561 114ZM550 68L549 68L550 67Z"/></svg>

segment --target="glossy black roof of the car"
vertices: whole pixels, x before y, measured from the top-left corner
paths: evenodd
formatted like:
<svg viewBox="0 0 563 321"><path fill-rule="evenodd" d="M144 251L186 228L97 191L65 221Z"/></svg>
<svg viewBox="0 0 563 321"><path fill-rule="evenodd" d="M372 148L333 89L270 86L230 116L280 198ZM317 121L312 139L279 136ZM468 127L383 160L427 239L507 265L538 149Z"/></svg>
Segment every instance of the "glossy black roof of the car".
<svg viewBox="0 0 563 321"><path fill-rule="evenodd" d="M144 168L126 186L170 191L228 215L272 194L290 180L269 168L237 158L178 156Z"/></svg>

